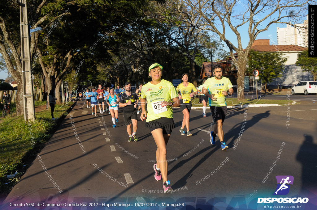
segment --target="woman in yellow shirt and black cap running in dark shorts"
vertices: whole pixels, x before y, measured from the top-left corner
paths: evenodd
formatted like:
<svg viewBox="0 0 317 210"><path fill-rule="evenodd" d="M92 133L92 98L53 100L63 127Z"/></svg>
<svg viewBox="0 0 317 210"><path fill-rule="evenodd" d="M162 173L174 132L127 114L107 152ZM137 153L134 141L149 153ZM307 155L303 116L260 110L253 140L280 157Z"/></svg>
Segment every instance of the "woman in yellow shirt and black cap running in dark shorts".
<svg viewBox="0 0 317 210"><path fill-rule="evenodd" d="M191 136L189 131L189 113L191 111L191 98L198 93L196 87L188 82L188 74L182 75L183 83L180 83L176 91L178 92L178 98L180 99L180 109L184 114L182 127L179 129L182 135L185 135L184 127L187 129L187 136Z"/></svg>

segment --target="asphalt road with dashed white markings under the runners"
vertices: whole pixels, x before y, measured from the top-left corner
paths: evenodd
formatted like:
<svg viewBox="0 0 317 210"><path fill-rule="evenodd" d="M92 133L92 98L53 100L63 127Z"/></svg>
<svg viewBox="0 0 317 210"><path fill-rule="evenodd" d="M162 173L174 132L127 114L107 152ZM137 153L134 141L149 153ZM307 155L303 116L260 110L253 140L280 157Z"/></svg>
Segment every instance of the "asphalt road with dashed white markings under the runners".
<svg viewBox="0 0 317 210"><path fill-rule="evenodd" d="M176 128L167 145L167 160L168 179L178 191L169 195L155 193L163 187L153 177L156 145L145 122L138 121L139 141L128 142L121 110L117 127L112 128L109 114L95 117L83 103L77 102L0 208L16 209L7 205L29 201L138 203L162 197L171 202L188 197L198 205L199 198L224 196L229 203L255 190L256 196L272 196L275 176L280 175L294 176L288 196L317 189L317 103L228 109L223 124L229 146L225 151L218 138L215 146L210 144L208 131L214 125L209 108L205 118L202 109L191 110L191 137L178 131L183 115L175 108ZM275 160L276 167L270 170Z"/></svg>

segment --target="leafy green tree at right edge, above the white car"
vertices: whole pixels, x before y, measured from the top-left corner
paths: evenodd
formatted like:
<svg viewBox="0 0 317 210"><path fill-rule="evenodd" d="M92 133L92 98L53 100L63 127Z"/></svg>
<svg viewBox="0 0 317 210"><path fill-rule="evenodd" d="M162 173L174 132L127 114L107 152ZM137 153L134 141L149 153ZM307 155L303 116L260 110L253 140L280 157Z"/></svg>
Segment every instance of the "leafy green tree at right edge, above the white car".
<svg viewBox="0 0 317 210"><path fill-rule="evenodd" d="M317 58L309 58L308 50L300 52L296 65L301 66L303 71L310 72L314 77L314 81L317 81Z"/></svg>

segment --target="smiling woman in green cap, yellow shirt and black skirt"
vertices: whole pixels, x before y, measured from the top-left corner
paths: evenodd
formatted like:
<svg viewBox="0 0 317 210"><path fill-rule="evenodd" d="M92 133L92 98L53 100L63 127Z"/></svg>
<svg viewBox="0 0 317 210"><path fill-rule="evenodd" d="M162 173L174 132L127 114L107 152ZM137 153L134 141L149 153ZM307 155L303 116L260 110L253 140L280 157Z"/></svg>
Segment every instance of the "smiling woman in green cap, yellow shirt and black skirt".
<svg viewBox="0 0 317 210"><path fill-rule="evenodd" d="M164 193L171 192L170 181L167 180L166 145L172 129L175 127L173 120L173 107L179 107L177 93L171 82L162 77L163 67L154 63L149 67L149 76L152 81L145 84L141 92L141 120L146 120L145 127L152 133L157 145L154 178L159 181L163 178ZM145 109L147 100L147 113ZM171 102L173 101L173 102Z"/></svg>

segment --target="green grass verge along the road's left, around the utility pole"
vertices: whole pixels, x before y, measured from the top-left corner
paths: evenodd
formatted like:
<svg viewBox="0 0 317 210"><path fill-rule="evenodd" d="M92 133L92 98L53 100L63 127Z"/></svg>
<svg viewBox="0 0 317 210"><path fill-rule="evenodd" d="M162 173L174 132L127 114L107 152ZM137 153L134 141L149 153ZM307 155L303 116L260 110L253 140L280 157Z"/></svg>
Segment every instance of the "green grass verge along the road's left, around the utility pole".
<svg viewBox="0 0 317 210"><path fill-rule="evenodd" d="M46 102L36 104L37 106L44 105ZM36 120L30 124L24 121L23 115L13 115L1 120L0 192L5 194L10 192L67 115L68 110L59 107L59 105L55 106L54 117L59 118L55 121L51 120L50 109L37 112ZM16 171L18 174L15 178L7 178L7 175L14 174Z"/></svg>

